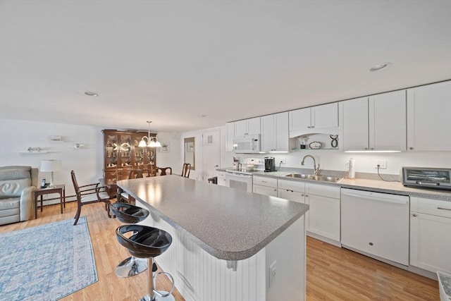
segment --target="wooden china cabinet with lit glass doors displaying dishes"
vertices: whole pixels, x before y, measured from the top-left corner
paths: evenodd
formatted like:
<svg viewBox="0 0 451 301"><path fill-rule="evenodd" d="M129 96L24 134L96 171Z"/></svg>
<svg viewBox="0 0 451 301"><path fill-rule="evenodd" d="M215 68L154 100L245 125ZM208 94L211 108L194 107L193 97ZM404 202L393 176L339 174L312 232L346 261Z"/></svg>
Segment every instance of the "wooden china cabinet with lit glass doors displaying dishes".
<svg viewBox="0 0 451 301"><path fill-rule="evenodd" d="M102 130L104 133L104 178L105 183L116 183L116 180L128 178L132 169L156 166L155 147L138 147L147 132L120 130ZM151 137L156 136L150 133ZM109 185L110 197L116 197L116 185Z"/></svg>

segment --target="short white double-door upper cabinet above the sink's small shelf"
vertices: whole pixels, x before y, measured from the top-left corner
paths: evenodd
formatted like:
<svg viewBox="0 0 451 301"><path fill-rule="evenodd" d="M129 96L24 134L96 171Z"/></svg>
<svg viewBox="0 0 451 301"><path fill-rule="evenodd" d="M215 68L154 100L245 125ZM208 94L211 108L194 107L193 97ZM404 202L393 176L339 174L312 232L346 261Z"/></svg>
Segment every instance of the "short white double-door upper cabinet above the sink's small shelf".
<svg viewBox="0 0 451 301"><path fill-rule="evenodd" d="M323 104L289 112L290 137L309 133L338 134L338 104Z"/></svg>

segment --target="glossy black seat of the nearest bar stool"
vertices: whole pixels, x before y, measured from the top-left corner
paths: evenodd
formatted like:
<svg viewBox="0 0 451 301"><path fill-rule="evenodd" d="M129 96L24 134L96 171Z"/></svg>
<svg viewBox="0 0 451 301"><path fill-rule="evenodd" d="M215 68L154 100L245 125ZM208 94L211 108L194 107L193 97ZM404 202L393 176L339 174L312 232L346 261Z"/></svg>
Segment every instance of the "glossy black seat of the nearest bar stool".
<svg viewBox="0 0 451 301"><path fill-rule="evenodd" d="M130 238L125 237L125 233L130 232L133 233ZM132 256L138 258L157 257L163 254L172 243L171 234L142 225L119 226L116 229L116 238Z"/></svg>

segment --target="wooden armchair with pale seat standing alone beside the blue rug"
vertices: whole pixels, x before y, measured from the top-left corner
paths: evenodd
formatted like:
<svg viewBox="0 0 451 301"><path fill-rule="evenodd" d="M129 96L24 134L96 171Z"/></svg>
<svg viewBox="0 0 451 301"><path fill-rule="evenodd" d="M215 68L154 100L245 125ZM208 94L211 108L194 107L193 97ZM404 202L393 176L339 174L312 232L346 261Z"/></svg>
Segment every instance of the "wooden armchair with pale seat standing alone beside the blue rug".
<svg viewBox="0 0 451 301"><path fill-rule="evenodd" d="M93 183L87 185L78 185L77 178L75 178L75 172L70 171L70 177L72 178L73 188L75 189L75 195L77 195L77 213L75 214L75 222L73 226L78 223L80 218L80 213L82 211L82 206L87 204L94 204L98 202L105 203L105 210L108 213L108 217L111 218L110 214L110 196L105 191L100 191L103 186L100 183Z"/></svg>

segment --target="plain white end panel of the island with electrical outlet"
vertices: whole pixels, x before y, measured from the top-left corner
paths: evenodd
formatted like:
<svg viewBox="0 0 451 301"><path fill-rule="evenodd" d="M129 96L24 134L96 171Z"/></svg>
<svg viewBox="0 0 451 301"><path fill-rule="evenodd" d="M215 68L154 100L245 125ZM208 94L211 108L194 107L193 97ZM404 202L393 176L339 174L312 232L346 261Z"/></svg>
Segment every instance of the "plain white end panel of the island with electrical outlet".
<svg viewBox="0 0 451 301"><path fill-rule="evenodd" d="M306 233L301 216L266 247L266 301L306 298ZM276 276L270 281L271 266Z"/></svg>

